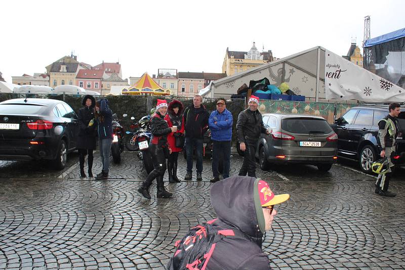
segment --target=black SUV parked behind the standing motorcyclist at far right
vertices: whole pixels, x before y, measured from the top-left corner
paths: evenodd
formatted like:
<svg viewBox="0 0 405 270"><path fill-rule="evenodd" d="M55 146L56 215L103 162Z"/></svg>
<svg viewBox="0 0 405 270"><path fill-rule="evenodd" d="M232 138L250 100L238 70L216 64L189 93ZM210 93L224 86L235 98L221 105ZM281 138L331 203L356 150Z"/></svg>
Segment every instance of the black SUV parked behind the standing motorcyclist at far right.
<svg viewBox="0 0 405 270"><path fill-rule="evenodd" d="M405 112L398 116L397 154L405 155ZM335 119L333 130L338 134L338 156L358 160L360 169L371 173L371 165L380 158L378 149L378 122L388 114L388 105L353 107ZM404 160L401 160L403 163Z"/></svg>

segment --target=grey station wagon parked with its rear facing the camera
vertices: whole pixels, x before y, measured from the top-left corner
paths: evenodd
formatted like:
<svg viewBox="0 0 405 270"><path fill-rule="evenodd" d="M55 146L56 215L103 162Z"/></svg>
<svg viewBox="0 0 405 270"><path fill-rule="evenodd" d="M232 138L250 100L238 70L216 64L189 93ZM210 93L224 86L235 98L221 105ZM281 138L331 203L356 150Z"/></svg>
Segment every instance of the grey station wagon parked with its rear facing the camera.
<svg viewBox="0 0 405 270"><path fill-rule="evenodd" d="M270 134L262 133L256 157L267 170L274 164L311 164L328 171L336 162L337 135L329 123L318 116L301 114L263 114Z"/></svg>

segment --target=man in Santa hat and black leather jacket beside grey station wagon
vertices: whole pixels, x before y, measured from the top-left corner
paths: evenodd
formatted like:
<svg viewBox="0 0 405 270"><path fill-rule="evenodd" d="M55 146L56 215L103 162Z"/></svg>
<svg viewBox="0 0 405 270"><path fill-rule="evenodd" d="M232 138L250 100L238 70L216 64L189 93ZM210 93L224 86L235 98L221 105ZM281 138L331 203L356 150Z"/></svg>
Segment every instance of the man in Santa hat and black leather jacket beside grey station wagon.
<svg viewBox="0 0 405 270"><path fill-rule="evenodd" d="M256 177L256 145L260 133L268 134L264 128L262 114L257 110L259 98L251 96L249 98L249 108L241 111L237 117L236 133L241 151L245 152L244 163L239 170L239 175Z"/></svg>

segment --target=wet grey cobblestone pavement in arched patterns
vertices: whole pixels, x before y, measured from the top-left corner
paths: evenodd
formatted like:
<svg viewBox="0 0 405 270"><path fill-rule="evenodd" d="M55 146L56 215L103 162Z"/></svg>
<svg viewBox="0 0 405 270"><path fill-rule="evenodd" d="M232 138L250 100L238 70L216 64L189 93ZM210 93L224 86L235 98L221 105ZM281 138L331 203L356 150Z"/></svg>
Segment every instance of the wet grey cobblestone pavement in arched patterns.
<svg viewBox="0 0 405 270"><path fill-rule="evenodd" d="M136 153L111 163L108 181L80 179L78 155L63 171L41 163L0 161L0 269L164 269L174 242L191 226L215 218L210 161L203 182L168 185L170 199L137 193L146 173ZM95 155L94 172L101 170ZM231 175L242 159L233 154ZM179 156L179 175L185 161ZM405 268L404 170L390 184L396 198L374 194L375 177L355 163L321 173L309 165L257 169L277 206L264 251L274 269ZM193 175L195 177L195 173Z"/></svg>

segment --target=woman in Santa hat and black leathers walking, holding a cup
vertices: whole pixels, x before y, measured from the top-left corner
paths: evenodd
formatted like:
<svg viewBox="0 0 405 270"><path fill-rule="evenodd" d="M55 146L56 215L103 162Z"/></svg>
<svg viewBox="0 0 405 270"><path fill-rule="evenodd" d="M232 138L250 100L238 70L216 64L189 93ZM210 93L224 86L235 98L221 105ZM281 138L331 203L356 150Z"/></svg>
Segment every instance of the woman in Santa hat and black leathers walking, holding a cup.
<svg viewBox="0 0 405 270"><path fill-rule="evenodd" d="M169 157L172 150L168 144L168 134L176 132L177 127L169 127L166 122L165 115L168 111L168 103L166 100L157 100L156 112L150 118L150 127L152 137L150 138L149 151L152 156L154 169L146 177L138 192L146 199L150 200L149 187L154 178L156 178L157 198L171 197L173 194L168 192L163 183L163 176L166 171L166 158Z"/></svg>

